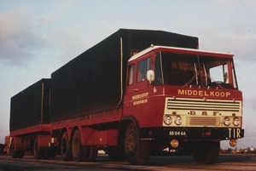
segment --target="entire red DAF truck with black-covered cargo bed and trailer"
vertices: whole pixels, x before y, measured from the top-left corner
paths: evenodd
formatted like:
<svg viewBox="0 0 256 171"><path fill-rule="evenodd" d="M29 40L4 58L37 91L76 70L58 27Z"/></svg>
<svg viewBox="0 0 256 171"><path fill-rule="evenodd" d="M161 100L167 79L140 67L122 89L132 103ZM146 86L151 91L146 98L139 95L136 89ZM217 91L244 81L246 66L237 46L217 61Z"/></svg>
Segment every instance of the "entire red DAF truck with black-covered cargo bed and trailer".
<svg viewBox="0 0 256 171"><path fill-rule="evenodd" d="M199 50L197 37L120 29L11 99L12 157L215 162L221 140L244 136L233 56Z"/></svg>

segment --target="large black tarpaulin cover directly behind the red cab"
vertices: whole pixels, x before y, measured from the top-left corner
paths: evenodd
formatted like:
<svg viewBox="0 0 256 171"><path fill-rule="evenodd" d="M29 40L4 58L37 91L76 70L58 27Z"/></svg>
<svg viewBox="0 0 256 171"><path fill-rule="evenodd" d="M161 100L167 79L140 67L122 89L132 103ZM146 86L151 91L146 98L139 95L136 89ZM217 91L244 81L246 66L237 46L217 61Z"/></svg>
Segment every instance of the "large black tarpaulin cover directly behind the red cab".
<svg viewBox="0 0 256 171"><path fill-rule="evenodd" d="M198 38L166 31L120 29L114 32L52 73L50 122L122 107L119 101L121 86L125 93L126 63L132 52L142 51L151 44L198 48Z"/></svg>

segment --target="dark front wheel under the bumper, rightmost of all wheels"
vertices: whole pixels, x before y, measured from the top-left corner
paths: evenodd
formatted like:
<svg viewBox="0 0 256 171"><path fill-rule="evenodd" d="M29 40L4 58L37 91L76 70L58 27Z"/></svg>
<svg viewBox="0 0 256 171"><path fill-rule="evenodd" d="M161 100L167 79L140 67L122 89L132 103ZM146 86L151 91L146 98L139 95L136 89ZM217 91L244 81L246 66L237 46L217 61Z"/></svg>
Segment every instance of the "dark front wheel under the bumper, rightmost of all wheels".
<svg viewBox="0 0 256 171"><path fill-rule="evenodd" d="M212 164L216 162L218 158L218 152L220 148L220 142L207 141L202 142L197 148L195 153L192 154L195 162L200 164Z"/></svg>

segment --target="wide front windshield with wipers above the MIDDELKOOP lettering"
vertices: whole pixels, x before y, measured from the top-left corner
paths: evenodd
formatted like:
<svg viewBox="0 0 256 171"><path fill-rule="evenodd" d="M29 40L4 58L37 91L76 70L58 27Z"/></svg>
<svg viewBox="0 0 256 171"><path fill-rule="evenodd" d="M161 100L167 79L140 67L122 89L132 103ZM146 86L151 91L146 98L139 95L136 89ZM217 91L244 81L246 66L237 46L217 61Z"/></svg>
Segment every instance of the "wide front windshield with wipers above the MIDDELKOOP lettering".
<svg viewBox="0 0 256 171"><path fill-rule="evenodd" d="M233 60L160 52L154 59L154 84L237 88Z"/></svg>

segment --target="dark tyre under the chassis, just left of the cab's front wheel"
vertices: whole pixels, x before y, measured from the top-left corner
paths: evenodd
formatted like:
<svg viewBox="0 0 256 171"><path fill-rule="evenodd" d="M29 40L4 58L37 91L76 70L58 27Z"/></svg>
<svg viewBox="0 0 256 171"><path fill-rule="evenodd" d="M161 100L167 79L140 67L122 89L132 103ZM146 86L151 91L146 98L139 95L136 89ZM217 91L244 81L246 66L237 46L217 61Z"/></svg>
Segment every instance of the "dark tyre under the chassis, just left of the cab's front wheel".
<svg viewBox="0 0 256 171"><path fill-rule="evenodd" d="M120 145L109 146L108 147L108 157L112 161L121 161L125 157L124 148Z"/></svg>

